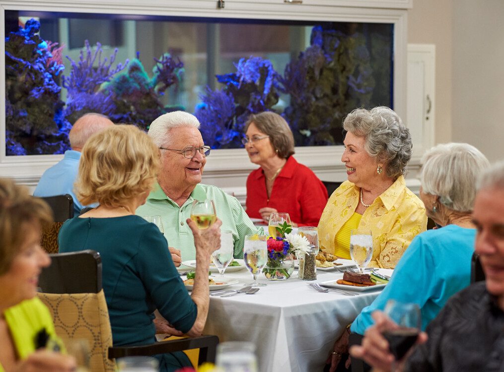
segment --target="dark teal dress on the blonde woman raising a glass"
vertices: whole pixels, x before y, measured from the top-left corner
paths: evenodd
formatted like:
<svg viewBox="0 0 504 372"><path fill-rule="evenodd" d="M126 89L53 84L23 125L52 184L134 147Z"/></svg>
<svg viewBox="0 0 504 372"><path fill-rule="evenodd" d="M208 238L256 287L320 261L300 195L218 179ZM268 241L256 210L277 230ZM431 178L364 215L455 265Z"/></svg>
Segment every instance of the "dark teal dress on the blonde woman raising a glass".
<svg viewBox="0 0 504 372"><path fill-rule="evenodd" d="M61 227L58 241L59 252L93 249L100 253L114 346L155 342L155 309L179 331L193 327L196 304L156 225L136 215L74 217ZM188 362L184 355L171 354Z"/></svg>

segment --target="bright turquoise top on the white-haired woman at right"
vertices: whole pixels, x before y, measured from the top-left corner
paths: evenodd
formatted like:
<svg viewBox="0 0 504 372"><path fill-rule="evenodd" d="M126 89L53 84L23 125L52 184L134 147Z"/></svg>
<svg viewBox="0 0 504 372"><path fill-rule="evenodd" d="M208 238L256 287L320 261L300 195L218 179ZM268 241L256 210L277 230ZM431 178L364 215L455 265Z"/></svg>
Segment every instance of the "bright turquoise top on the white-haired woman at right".
<svg viewBox="0 0 504 372"><path fill-rule="evenodd" d="M382 293L360 312L350 330L361 335L373 324L371 313L384 310L393 299L420 306L422 330L448 299L467 287L476 230L448 225L417 235L394 270Z"/></svg>

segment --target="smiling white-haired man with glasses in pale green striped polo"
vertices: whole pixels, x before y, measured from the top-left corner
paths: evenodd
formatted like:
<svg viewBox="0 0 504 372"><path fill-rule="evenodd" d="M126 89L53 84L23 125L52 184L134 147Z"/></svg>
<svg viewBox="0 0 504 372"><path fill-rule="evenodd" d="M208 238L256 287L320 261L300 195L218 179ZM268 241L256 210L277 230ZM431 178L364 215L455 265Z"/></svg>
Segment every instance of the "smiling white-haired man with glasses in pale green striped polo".
<svg viewBox="0 0 504 372"><path fill-rule="evenodd" d="M185 222L191 216L195 199L214 201L222 230L233 233L234 258L243 258L245 235L258 233L235 197L216 186L200 183L210 147L203 143L199 127L194 115L176 111L161 115L149 128L149 136L160 148L161 170L154 190L136 213L161 216L176 266L181 259L196 257L193 234Z"/></svg>

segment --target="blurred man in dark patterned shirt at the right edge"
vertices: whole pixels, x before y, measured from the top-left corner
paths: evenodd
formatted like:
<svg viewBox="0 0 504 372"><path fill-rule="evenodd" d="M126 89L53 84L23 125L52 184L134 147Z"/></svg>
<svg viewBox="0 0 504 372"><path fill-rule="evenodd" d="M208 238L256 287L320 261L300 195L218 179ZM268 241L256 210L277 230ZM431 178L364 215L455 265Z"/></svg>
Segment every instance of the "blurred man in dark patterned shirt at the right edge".
<svg viewBox="0 0 504 372"><path fill-rule="evenodd" d="M486 281L447 302L399 370L504 371L504 162L482 174L473 221L478 230L475 250ZM379 312L373 318L375 325L366 331L362 346L350 353L389 371L394 357L381 333L390 320Z"/></svg>

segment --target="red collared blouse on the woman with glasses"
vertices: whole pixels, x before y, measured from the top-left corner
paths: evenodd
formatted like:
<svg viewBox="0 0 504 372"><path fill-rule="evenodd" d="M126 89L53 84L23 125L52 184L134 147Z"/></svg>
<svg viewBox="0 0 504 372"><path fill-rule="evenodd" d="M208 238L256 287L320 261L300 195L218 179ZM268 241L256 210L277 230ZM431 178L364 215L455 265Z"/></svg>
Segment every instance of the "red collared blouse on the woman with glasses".
<svg viewBox="0 0 504 372"><path fill-rule="evenodd" d="M270 199L262 168L248 175L246 212L251 218L261 218L259 209L270 207L289 213L291 221L299 226L318 226L326 203L327 189L322 181L293 156L275 178Z"/></svg>

